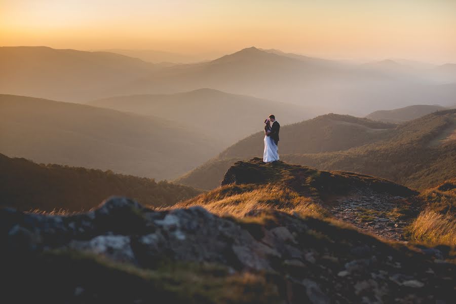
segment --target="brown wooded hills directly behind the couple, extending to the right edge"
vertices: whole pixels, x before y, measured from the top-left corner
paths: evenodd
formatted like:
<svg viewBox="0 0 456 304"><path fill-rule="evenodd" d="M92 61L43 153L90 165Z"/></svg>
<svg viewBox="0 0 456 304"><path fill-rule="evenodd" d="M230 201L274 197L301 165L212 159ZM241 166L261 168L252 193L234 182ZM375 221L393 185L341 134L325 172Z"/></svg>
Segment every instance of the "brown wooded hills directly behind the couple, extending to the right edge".
<svg viewBox="0 0 456 304"><path fill-rule="evenodd" d="M430 113L397 127L327 115L281 129L279 155L289 163L344 170L427 188L456 175L456 109ZM176 182L211 189L234 162L260 156L263 135L251 135ZM315 136L313 138L313 136Z"/></svg>

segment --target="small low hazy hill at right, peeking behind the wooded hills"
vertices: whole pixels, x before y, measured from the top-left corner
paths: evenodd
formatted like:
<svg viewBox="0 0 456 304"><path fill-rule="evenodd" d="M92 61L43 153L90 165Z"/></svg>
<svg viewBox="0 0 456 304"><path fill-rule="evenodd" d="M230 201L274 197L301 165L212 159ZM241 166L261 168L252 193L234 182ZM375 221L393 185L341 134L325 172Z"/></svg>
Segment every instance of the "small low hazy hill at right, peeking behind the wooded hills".
<svg viewBox="0 0 456 304"><path fill-rule="evenodd" d="M366 118L382 122L403 123L445 109L447 108L437 104L416 104L393 110L374 111L367 115Z"/></svg>

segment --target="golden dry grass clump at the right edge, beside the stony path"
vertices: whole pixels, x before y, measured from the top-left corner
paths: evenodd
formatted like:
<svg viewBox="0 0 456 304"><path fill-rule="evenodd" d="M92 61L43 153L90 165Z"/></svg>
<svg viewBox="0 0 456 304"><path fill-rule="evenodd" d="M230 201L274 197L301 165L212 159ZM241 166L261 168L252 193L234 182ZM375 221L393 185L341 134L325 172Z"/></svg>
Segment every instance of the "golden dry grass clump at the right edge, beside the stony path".
<svg viewBox="0 0 456 304"><path fill-rule="evenodd" d="M410 240L429 246L456 246L456 217L426 209L408 227Z"/></svg>

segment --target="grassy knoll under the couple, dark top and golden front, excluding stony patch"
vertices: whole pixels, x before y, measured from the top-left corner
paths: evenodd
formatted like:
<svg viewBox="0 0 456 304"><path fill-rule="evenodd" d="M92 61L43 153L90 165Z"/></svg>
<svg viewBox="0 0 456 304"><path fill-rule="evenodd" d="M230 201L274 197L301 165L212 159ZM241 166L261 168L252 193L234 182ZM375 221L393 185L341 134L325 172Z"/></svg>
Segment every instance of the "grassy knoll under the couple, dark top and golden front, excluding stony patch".
<svg viewBox="0 0 456 304"><path fill-rule="evenodd" d="M323 215L328 198L346 196L356 189L370 189L397 196L416 194L385 179L350 172L319 171L284 162L264 164L261 159L236 162L225 174L222 186L170 208L201 205L210 212L242 216L253 209L274 209L293 214Z"/></svg>

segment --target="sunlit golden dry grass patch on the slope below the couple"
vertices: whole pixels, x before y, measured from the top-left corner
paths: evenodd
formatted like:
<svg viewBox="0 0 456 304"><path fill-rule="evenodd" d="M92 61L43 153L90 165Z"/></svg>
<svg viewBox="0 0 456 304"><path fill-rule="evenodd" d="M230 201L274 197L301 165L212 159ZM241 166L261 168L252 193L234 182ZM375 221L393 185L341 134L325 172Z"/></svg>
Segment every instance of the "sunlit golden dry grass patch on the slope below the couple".
<svg viewBox="0 0 456 304"><path fill-rule="evenodd" d="M301 216L328 216L329 213L312 199L277 185L227 185L194 199L168 208L202 206L217 215L242 217L255 209L273 209Z"/></svg>

